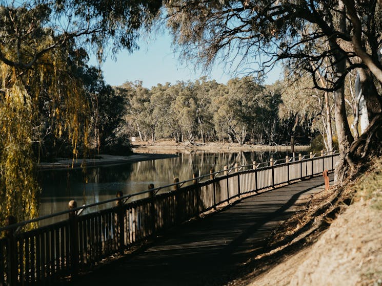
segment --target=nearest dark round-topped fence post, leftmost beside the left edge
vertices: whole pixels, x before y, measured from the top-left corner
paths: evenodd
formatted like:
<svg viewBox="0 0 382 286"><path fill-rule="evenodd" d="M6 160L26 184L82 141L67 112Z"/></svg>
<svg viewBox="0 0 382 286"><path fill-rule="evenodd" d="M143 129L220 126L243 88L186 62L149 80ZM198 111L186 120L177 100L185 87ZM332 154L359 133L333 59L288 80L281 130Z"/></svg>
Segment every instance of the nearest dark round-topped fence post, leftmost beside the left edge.
<svg viewBox="0 0 382 286"><path fill-rule="evenodd" d="M6 218L6 225L14 225L17 223L16 217L13 215L7 216ZM8 265L8 271L7 271L7 280L9 286L15 286L17 285L17 272L18 272L18 265L17 265L17 246L16 246L16 239L14 237L14 228L8 229L5 232L5 235L7 237L8 245L7 245L7 265ZM1 258L3 259L3 258ZM3 273L2 273L3 275Z"/></svg>

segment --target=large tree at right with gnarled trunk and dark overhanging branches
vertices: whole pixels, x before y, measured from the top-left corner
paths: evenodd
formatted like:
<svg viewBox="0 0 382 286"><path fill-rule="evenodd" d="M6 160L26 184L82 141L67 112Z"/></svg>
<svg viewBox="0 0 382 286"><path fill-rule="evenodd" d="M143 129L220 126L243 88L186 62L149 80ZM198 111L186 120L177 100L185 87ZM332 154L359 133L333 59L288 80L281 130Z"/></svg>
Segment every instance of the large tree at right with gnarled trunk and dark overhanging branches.
<svg viewBox="0 0 382 286"><path fill-rule="evenodd" d="M354 173L365 158L381 154L382 99L373 78L381 84L382 2L177 0L166 5L168 25L186 57L199 56L198 61L207 65L216 58L240 57L242 62L258 63L257 71L262 72L275 60L291 59L311 73L317 89L333 92L343 165L337 168L338 179ZM317 42L327 43L327 49L317 52ZM328 85L322 86L316 71L327 62L333 72L327 77ZM345 77L355 69L362 78L370 120L357 140L348 124L344 92Z"/></svg>

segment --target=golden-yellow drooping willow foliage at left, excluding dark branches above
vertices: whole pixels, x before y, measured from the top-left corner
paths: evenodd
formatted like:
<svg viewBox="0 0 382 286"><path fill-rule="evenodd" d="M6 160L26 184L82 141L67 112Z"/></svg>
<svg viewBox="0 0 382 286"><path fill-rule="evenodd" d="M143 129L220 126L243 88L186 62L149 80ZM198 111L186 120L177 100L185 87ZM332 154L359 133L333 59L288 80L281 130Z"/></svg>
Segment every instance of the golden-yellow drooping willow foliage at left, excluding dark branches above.
<svg viewBox="0 0 382 286"><path fill-rule="evenodd" d="M46 53L42 63L20 73L2 63L0 99L0 193L1 219L15 215L18 220L35 217L39 188L35 179L32 139L41 105L49 108L51 128L56 137L65 132L73 157L78 143L86 145L89 105L82 83L67 68L62 50Z"/></svg>

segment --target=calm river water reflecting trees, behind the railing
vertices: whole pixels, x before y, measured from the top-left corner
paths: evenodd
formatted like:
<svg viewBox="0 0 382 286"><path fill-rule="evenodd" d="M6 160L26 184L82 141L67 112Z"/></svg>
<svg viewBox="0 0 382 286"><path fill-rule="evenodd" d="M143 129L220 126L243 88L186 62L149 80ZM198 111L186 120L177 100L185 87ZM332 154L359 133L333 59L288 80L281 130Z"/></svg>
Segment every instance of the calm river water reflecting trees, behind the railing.
<svg viewBox="0 0 382 286"><path fill-rule="evenodd" d="M42 170L39 182L42 187L39 216L68 209L68 202L76 200L77 205L88 205L115 197L117 191L124 195L155 187L171 184L175 177L180 181L192 178L194 172L208 174L211 168L223 170L230 167L252 164L253 161L265 162L270 158L282 159L292 156L288 152L191 152L177 153L176 158L151 160L129 164L88 167L70 170ZM143 196L140 196L143 197ZM134 197L134 200L139 196ZM131 199L130 199L131 200ZM97 206L95 211L113 204ZM58 218L57 218L58 219Z"/></svg>

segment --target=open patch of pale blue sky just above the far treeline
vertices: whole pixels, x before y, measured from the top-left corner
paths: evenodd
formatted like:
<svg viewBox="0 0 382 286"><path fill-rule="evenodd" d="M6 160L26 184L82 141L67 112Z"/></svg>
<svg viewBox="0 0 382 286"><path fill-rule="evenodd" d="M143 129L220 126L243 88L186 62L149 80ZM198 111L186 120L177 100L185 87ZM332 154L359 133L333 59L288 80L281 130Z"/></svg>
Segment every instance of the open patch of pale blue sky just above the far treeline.
<svg viewBox="0 0 382 286"><path fill-rule="evenodd" d="M110 56L102 64L105 81L110 85L120 85L125 81L142 80L145 87L151 88L157 83L176 83L178 80L191 80L206 75L208 79L226 83L234 77L224 69L223 63L215 63L210 73L202 69L194 69L193 63L182 63L179 55L173 52L171 36L167 33L159 34L155 39L141 36L139 50L129 53L120 51L116 60ZM97 65L95 57L90 64ZM280 69L276 68L268 74L266 84L271 84L279 78Z"/></svg>

